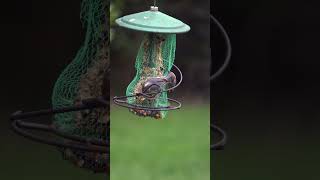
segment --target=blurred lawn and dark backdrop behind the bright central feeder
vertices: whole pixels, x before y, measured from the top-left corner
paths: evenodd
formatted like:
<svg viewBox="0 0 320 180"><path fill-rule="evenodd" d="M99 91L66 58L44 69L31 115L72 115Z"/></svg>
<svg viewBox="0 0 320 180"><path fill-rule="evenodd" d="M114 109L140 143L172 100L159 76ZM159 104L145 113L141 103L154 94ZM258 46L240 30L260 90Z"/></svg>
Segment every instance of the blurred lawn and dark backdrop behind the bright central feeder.
<svg viewBox="0 0 320 180"><path fill-rule="evenodd" d="M125 95L135 76L143 33L118 28L116 17L146 11L153 1L112 1L111 96ZM209 1L157 1L159 10L182 20L191 31L177 35L175 64L184 80L169 93L182 109L163 120L111 108L112 180L209 180Z"/></svg>

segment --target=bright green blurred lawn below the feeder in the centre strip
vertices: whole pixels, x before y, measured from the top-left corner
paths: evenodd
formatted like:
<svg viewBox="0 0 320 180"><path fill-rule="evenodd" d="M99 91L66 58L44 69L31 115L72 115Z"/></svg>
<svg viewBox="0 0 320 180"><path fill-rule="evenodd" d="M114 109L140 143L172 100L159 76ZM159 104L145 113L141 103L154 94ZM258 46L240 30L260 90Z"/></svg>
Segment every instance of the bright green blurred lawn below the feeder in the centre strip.
<svg viewBox="0 0 320 180"><path fill-rule="evenodd" d="M171 111L163 120L111 110L112 180L209 180L209 105Z"/></svg>

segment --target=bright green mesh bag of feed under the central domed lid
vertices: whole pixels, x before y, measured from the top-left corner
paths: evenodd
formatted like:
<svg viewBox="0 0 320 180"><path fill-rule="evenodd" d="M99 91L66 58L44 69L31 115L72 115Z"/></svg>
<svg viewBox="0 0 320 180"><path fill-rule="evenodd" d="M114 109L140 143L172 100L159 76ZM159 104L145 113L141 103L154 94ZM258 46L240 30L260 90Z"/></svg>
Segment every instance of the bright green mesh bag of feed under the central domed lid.
<svg viewBox="0 0 320 180"><path fill-rule="evenodd" d="M137 74L129 84L126 95L130 96L142 92L143 85L149 77L167 76L174 62L175 48L175 34L146 34L136 58L135 68ZM162 84L161 89L165 88L167 87ZM157 108L169 105L167 92L162 92L154 98L145 98L143 96L130 97L128 98L128 103ZM166 115L166 111L151 112L140 110L138 112L159 118Z"/></svg>

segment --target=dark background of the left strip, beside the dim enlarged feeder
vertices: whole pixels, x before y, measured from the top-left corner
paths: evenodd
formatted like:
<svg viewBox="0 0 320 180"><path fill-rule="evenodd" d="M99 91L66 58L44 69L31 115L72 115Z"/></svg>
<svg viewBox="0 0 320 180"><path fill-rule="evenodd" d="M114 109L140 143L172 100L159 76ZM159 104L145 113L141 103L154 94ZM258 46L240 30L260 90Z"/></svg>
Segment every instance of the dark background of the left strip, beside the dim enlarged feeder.
<svg viewBox="0 0 320 180"><path fill-rule="evenodd" d="M53 85L83 43L80 0L6 1L0 8L0 179L106 179L76 168L54 147L10 130L18 109L51 107Z"/></svg>

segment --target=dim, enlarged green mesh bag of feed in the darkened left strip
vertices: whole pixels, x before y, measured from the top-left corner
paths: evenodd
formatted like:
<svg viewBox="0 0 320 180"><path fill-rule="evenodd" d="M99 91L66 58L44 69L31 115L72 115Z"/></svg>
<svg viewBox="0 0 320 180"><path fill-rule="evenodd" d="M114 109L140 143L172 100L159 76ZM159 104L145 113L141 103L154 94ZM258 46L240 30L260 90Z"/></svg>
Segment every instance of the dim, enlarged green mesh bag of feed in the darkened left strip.
<svg viewBox="0 0 320 180"><path fill-rule="evenodd" d="M77 105L82 100L108 98L108 17L106 0L83 0L81 19L87 28L84 45L58 78L52 96L54 108ZM107 141L109 109L57 114L54 124L62 131ZM80 166L106 169L107 155L69 150Z"/></svg>

